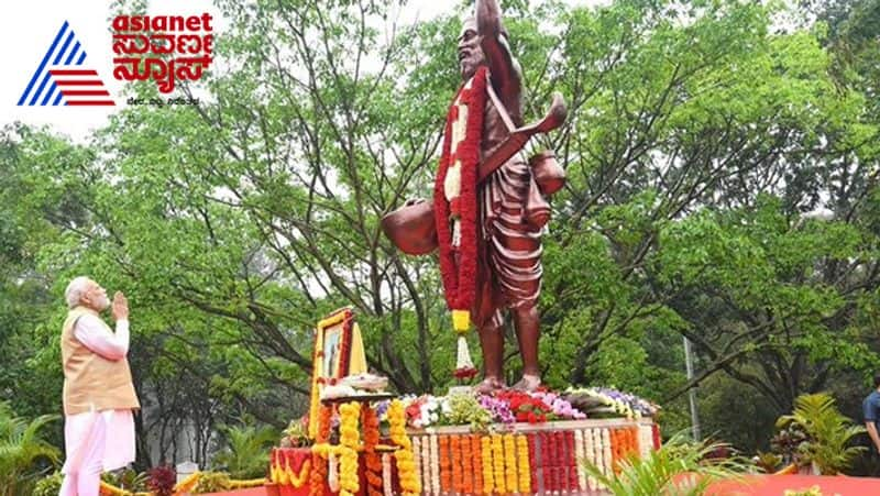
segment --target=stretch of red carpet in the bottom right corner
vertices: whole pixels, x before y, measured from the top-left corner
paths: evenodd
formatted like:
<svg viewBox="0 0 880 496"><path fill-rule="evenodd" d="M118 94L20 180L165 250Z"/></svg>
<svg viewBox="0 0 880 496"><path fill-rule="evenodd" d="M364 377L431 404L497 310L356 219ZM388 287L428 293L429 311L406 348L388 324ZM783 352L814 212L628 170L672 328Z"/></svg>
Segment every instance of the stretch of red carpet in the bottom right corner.
<svg viewBox="0 0 880 496"><path fill-rule="evenodd" d="M712 496L782 496L785 489L818 486L824 496L880 496L880 478L820 475L754 475L745 483L722 483L712 487Z"/></svg>

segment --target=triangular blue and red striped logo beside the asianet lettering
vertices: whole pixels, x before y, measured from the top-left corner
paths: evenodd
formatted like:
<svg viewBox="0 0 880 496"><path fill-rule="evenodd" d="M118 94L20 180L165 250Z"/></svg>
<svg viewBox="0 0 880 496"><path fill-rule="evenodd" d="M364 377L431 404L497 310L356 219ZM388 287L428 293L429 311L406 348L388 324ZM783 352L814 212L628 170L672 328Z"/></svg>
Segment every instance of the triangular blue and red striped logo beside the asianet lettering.
<svg viewBox="0 0 880 496"><path fill-rule="evenodd" d="M82 64L86 49L65 21L34 71L19 106L113 106L98 71Z"/></svg>

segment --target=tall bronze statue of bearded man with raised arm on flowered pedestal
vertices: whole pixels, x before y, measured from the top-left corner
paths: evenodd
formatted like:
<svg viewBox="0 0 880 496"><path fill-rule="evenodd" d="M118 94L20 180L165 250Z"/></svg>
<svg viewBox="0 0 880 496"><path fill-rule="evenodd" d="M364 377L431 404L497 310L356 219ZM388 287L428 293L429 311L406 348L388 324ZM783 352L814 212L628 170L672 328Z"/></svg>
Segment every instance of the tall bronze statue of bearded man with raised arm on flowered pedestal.
<svg viewBox="0 0 880 496"><path fill-rule="evenodd" d="M477 0L475 14L475 19L464 22L459 36L459 67L464 86L453 108L458 109L459 99L466 98L462 95L466 95L464 91L474 86L474 79L487 73L486 102L482 119L477 120L482 121L482 133L479 136L479 165L475 172L476 271L475 282L466 282L475 284L469 310L479 330L483 350L484 379L477 390L487 393L504 387L505 309L512 316L522 359L522 377L514 387L534 390L541 383L537 309L542 273L541 234L550 218L550 208L543 195L561 188L564 174L551 153L539 154L527 163L520 150L532 134L558 128L565 119L565 107L561 97L556 95L550 112L541 122L522 126L522 77L519 64L510 53L497 1ZM466 109L458 111L466 114ZM453 120L450 122L455 123ZM463 133L454 125L447 129L447 134L452 134L453 162L458 153L457 140L463 141ZM447 136L447 153L449 141ZM439 232L441 268L443 232L452 233L454 263L459 266L463 260L461 240L463 235L466 236L466 230L460 225L458 217L458 185L453 186L455 191L450 195L450 181L446 179L447 172L442 164L441 161L438 174L444 177L438 176L433 206L429 202L407 202L404 208L383 219L386 234L402 251L410 254L431 252L438 245ZM455 165L460 164L457 162ZM466 164L460 168L466 169ZM443 179L446 183L440 184ZM466 181L463 172L462 180ZM465 188L462 186L461 189L464 191ZM449 201L437 203L437 197L444 194ZM447 208L450 205L450 224L443 225L441 222L446 218L435 218L433 210L437 206ZM462 216L466 217L464 213ZM465 284L464 279L462 284Z"/></svg>

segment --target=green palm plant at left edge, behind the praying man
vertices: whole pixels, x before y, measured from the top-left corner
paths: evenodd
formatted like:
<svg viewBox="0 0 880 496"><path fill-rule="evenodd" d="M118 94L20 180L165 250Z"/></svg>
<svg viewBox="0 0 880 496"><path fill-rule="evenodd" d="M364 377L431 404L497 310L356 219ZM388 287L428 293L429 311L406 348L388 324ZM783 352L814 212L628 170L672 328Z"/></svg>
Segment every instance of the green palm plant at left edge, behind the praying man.
<svg viewBox="0 0 880 496"><path fill-rule="evenodd" d="M58 463L58 449L47 443L42 432L57 419L16 417L7 403L0 401L0 496L29 494L46 462Z"/></svg>

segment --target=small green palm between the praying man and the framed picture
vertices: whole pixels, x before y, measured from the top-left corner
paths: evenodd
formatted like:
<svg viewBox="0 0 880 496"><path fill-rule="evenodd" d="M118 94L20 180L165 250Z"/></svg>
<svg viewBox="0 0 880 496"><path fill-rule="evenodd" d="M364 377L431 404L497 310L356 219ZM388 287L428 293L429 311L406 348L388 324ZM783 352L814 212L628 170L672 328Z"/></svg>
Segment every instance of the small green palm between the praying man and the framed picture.
<svg viewBox="0 0 880 496"><path fill-rule="evenodd" d="M226 447L217 453L213 464L232 478L255 478L266 474L270 448L277 432L270 427L234 426L223 429Z"/></svg>

